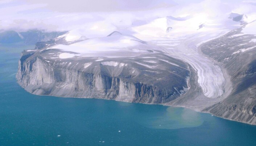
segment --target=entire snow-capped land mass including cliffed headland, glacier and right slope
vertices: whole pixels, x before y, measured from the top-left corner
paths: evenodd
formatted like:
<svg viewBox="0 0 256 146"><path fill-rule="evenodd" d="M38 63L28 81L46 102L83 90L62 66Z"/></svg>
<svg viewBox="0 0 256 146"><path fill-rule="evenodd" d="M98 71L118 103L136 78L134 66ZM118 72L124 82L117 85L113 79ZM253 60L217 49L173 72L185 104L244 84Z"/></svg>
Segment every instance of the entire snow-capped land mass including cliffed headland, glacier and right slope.
<svg viewBox="0 0 256 146"><path fill-rule="evenodd" d="M18 83L39 95L183 106L256 124L256 14L227 6L106 14L23 51Z"/></svg>

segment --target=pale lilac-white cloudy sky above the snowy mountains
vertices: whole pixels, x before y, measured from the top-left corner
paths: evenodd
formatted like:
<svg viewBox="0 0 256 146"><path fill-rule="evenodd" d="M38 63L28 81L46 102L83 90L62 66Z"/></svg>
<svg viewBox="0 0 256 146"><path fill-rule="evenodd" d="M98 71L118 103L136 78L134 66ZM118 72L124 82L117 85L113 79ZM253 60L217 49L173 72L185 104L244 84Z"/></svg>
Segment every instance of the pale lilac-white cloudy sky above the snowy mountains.
<svg viewBox="0 0 256 146"><path fill-rule="evenodd" d="M255 0L0 0L0 29L114 30L166 16L236 12L254 17L255 11Z"/></svg>

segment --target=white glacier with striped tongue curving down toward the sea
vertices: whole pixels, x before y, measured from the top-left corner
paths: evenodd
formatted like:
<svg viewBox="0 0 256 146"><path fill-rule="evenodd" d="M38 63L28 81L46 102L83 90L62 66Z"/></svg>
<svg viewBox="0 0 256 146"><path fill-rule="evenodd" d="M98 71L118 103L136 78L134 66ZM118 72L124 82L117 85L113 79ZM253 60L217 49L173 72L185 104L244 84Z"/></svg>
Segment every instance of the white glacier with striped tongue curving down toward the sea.
<svg viewBox="0 0 256 146"><path fill-rule="evenodd" d="M223 95L226 80L221 68L197 50L198 45L241 27L231 19L210 20L207 14L191 18L158 18L149 24L133 28L137 37L160 46L164 53L182 59L193 66L198 74L198 84L206 97ZM171 29L170 29L171 28Z"/></svg>

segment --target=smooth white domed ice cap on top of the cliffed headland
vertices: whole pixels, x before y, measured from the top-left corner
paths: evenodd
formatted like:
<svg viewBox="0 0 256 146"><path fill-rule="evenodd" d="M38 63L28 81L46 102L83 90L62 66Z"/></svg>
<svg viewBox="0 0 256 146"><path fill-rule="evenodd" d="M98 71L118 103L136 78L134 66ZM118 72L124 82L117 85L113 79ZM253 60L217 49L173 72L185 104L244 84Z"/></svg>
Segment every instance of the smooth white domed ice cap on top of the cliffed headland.
<svg viewBox="0 0 256 146"><path fill-rule="evenodd" d="M113 33L107 37L87 39L71 45L55 45L48 49L71 51L79 53L77 56L80 57L93 56L95 54L102 57L120 57L120 54L124 57L131 57L135 54L148 53L147 50L150 49L150 46L136 37ZM70 55L70 57L73 56Z"/></svg>

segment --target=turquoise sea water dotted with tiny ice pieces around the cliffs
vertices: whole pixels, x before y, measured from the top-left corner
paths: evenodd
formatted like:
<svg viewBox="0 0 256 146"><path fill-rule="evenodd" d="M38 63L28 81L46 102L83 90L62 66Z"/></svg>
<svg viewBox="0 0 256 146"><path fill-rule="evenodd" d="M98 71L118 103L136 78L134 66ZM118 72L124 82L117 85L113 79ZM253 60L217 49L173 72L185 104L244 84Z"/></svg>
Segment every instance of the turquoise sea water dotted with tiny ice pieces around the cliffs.
<svg viewBox="0 0 256 146"><path fill-rule="evenodd" d="M0 146L256 145L256 126L186 108L32 95L15 74L33 48L0 44Z"/></svg>

